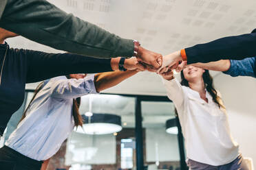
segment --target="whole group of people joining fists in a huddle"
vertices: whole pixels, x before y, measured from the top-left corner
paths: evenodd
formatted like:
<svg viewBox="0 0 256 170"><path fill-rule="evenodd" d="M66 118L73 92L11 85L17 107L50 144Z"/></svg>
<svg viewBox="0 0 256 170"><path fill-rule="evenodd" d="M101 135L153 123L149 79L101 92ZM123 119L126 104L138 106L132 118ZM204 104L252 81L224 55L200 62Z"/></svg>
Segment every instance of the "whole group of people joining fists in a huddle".
<svg viewBox="0 0 256 170"><path fill-rule="evenodd" d="M43 81L0 149L1 169L43 168L74 127L83 125L81 96L146 70L162 76L175 104L189 169L247 169L209 70L256 77L256 30L162 56L45 0L0 1L0 17L0 135L23 103L25 84ZM6 38L18 35L69 53L10 48ZM173 70L181 71L181 82Z"/></svg>

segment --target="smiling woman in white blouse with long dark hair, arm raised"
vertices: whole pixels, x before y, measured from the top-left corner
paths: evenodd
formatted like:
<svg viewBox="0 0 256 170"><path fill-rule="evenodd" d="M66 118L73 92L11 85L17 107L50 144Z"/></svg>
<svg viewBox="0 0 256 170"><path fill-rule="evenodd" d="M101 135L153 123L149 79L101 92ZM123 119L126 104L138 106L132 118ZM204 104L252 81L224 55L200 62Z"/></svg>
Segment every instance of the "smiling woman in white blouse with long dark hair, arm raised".
<svg viewBox="0 0 256 170"><path fill-rule="evenodd" d="M167 95L178 111L189 169L247 169L209 71L186 66L181 83L172 71L162 73L162 77Z"/></svg>

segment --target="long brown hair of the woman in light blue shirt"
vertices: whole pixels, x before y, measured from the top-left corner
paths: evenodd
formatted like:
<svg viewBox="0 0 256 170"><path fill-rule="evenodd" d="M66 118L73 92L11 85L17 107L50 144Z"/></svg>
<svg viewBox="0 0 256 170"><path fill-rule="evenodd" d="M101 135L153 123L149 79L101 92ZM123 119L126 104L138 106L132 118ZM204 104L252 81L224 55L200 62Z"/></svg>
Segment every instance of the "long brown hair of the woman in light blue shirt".
<svg viewBox="0 0 256 170"><path fill-rule="evenodd" d="M67 79L70 79L69 75L66 75L66 77L67 77ZM41 82L39 84L39 86L36 87L36 90L34 90L34 96L32 97L32 99L30 101L30 104L32 103L32 101L36 97L37 93L39 93L39 91L43 88L43 84L44 84L44 82ZM21 122L25 118L25 113L27 112L28 108L30 107L30 104L25 109L25 112L23 112L23 115L22 115L21 120L19 122ZM78 127L79 125L83 126L83 118L81 117L81 114L79 113L80 104L81 104L81 97L73 99L72 114L73 114L73 118L74 118L74 124L75 124L76 127Z"/></svg>

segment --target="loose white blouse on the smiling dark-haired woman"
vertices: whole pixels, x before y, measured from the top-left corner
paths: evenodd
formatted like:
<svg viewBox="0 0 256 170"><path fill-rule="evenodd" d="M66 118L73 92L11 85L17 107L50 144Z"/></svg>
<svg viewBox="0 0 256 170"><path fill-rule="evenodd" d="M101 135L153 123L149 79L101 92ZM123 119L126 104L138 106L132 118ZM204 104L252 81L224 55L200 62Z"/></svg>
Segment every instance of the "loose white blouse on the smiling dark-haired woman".
<svg viewBox="0 0 256 170"><path fill-rule="evenodd" d="M178 111L186 156L213 166L235 160L239 155L239 145L231 136L226 110L220 109L208 92L207 103L197 91L181 86L176 79L163 82Z"/></svg>

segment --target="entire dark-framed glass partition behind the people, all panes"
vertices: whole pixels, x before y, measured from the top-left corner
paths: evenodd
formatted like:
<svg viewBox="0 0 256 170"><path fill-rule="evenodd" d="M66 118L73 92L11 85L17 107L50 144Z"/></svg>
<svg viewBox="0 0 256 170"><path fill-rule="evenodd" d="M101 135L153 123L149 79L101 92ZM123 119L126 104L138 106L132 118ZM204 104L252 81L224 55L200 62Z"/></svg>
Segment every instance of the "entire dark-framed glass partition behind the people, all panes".
<svg viewBox="0 0 256 170"><path fill-rule="evenodd" d="M6 139L17 127L33 95L33 90L27 90L23 106L8 123ZM169 99L138 95L86 95L81 97L79 111L85 120L84 129L72 132L51 158L47 170L176 170L180 169L180 162L185 164L184 156L180 157L179 153L179 147L184 149L183 144L179 145L177 130L171 123L175 114ZM142 119L137 119L140 113ZM86 125L94 127L90 133ZM135 132L136 125L142 133ZM118 129L113 128L114 131L109 132L110 127ZM145 168L136 167L143 162Z"/></svg>

